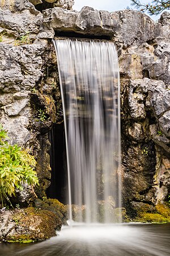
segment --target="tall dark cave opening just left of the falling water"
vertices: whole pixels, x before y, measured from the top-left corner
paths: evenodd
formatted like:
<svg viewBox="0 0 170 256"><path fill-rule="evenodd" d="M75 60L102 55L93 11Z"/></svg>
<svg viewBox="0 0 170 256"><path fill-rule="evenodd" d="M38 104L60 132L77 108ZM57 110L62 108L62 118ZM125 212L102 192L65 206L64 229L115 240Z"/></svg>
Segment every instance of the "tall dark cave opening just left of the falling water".
<svg viewBox="0 0 170 256"><path fill-rule="evenodd" d="M51 143L49 154L52 177L46 195L66 204L67 161L63 122L53 125L48 135Z"/></svg>

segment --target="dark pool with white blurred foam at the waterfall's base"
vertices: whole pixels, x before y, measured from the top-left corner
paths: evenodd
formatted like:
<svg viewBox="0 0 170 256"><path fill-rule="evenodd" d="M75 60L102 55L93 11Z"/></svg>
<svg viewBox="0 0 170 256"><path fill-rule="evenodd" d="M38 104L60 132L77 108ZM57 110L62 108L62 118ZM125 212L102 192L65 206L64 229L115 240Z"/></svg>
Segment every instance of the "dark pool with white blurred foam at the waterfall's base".
<svg viewBox="0 0 170 256"><path fill-rule="evenodd" d="M74 225L39 243L0 243L0 255L168 256L169 241L170 224Z"/></svg>

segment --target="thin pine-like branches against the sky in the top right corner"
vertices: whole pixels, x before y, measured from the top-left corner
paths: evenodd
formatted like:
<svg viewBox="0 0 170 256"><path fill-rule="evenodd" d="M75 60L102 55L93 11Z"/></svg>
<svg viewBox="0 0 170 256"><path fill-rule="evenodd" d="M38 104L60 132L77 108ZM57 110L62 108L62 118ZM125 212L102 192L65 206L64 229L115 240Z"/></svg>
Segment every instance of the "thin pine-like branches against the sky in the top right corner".
<svg viewBox="0 0 170 256"><path fill-rule="evenodd" d="M141 3L139 0L131 0L131 5L139 11L150 15L158 15L164 10L170 10L170 1L168 0L152 0L150 3Z"/></svg>

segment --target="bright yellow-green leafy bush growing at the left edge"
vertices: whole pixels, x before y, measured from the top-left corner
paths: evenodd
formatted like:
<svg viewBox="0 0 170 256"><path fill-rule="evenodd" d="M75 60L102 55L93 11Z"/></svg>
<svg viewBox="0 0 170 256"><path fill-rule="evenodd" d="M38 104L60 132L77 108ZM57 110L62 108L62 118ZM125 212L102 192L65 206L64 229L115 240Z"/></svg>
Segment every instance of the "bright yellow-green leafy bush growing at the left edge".
<svg viewBox="0 0 170 256"><path fill-rule="evenodd" d="M7 133L0 125L0 196L8 201L15 196L15 189L23 189L23 184L39 185L36 172L36 160L26 150L7 141ZM2 205L3 206L3 205Z"/></svg>

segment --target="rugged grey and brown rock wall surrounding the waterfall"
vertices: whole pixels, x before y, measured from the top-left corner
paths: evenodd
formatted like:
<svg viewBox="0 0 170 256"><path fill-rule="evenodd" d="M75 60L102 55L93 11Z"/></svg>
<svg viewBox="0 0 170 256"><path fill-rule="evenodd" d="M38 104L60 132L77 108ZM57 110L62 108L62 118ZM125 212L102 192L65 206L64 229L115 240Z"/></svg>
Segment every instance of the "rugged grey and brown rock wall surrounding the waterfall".
<svg viewBox="0 0 170 256"><path fill-rule="evenodd" d="M46 2L66 9L73 3ZM170 190L169 13L154 22L132 10L108 13L84 7L78 12L43 5L40 12L33 4L4 0L0 5L0 122L12 144L29 148L36 156L41 184L37 195L44 197L50 184L47 133L53 123L62 121L51 39L69 32L116 43L124 205L131 217L143 207L152 210Z"/></svg>

